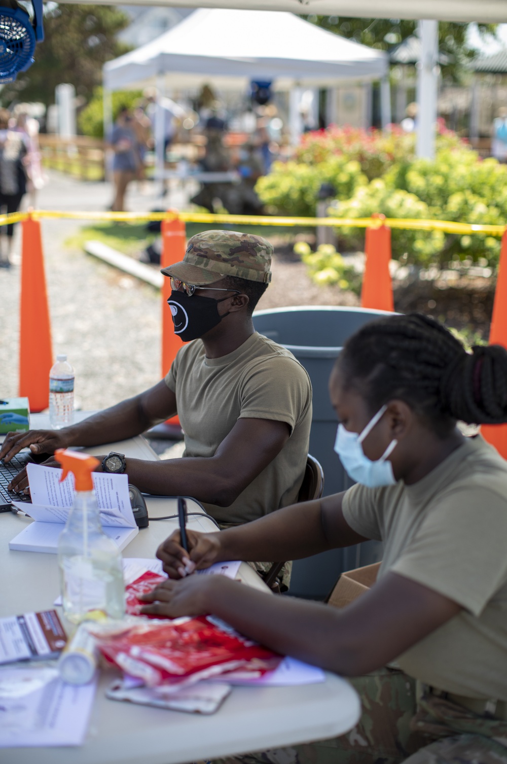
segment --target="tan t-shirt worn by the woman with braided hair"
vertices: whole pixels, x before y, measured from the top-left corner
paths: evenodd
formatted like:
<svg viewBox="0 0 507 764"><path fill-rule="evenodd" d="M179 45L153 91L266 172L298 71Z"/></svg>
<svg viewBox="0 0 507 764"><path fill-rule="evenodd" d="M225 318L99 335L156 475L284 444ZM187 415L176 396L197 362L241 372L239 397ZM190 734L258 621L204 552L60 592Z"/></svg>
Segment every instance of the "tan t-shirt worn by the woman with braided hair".
<svg viewBox="0 0 507 764"><path fill-rule="evenodd" d="M351 528L385 543L393 571L464 610L399 656L409 675L469 698L507 701L507 462L480 435L412 485L355 485Z"/></svg>

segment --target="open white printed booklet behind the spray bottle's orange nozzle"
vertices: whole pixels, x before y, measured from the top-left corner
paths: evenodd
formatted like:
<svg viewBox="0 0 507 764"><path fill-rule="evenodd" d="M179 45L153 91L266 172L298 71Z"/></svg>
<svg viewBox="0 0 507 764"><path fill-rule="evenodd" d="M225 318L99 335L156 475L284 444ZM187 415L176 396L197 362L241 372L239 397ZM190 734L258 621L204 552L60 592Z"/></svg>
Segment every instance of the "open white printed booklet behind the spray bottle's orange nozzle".
<svg viewBox="0 0 507 764"><path fill-rule="evenodd" d="M9 542L9 549L56 554L60 533L74 501L73 475L69 474L60 483L62 470L31 464L27 465L27 475L32 503L13 503L35 522ZM94 472L92 480L102 529L124 549L139 532L128 496L128 476Z"/></svg>

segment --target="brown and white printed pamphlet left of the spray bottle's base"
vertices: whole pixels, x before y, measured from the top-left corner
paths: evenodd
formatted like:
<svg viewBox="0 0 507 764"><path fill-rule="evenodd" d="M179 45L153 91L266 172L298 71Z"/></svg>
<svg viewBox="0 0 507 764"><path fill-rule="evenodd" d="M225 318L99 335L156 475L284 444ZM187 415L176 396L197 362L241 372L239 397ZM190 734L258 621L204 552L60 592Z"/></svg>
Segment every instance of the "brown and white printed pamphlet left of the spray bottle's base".
<svg viewBox="0 0 507 764"><path fill-rule="evenodd" d="M66 641L56 610L0 618L0 664L57 658Z"/></svg>

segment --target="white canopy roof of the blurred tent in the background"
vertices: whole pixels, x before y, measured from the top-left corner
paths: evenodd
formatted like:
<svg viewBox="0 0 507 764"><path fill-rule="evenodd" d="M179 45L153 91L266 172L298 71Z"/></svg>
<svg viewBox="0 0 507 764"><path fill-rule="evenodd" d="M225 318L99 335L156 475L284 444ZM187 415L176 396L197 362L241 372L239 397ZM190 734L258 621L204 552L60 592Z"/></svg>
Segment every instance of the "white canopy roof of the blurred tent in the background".
<svg viewBox="0 0 507 764"><path fill-rule="evenodd" d="M389 59L282 11L200 8L156 40L104 66L104 86L143 86L164 75L177 88L244 86L274 80L276 90L379 79Z"/></svg>

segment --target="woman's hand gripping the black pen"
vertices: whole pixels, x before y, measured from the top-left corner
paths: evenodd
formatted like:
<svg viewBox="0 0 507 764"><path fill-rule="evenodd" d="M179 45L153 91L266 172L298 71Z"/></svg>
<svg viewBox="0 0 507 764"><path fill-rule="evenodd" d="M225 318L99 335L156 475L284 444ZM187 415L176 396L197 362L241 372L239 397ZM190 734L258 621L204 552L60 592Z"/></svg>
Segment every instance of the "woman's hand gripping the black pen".
<svg viewBox="0 0 507 764"><path fill-rule="evenodd" d="M187 530L187 553L181 545L179 530L175 530L157 549L163 570L169 578L184 578L195 570L209 568L221 559L220 533L197 533Z"/></svg>

